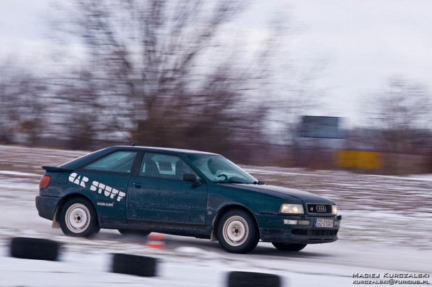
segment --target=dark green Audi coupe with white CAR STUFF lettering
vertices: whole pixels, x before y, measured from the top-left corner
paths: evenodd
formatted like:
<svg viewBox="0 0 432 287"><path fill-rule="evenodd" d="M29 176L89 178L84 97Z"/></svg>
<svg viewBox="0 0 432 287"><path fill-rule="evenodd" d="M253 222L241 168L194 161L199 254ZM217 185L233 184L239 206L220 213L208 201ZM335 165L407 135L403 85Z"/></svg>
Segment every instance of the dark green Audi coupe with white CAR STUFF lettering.
<svg viewBox="0 0 432 287"><path fill-rule="evenodd" d="M233 253L259 240L299 251L337 240L341 221L334 201L265 185L214 153L113 146L43 169L36 208L71 236L110 228L218 240Z"/></svg>

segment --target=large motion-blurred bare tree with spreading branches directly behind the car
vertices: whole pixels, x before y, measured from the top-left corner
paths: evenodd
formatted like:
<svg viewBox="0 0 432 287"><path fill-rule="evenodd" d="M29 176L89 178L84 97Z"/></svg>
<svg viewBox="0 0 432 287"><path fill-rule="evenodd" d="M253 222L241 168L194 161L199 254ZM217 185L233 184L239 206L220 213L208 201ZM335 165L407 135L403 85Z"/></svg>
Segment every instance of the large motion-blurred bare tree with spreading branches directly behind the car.
<svg viewBox="0 0 432 287"><path fill-rule="evenodd" d="M240 49L215 52L219 31L242 8L237 0L70 1L56 26L79 43L86 63L85 77L74 72L59 93L75 111L68 125L83 133L73 137L128 121L139 144L219 151L222 142L259 134L268 104L252 95L264 66L245 67L266 56L245 65Z"/></svg>

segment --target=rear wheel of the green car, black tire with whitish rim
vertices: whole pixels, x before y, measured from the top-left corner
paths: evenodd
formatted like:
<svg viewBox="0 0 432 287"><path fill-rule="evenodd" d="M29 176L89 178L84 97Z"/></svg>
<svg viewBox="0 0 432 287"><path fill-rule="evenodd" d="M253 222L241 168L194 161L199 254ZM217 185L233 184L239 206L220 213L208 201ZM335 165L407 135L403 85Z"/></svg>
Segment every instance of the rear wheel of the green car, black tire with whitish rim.
<svg viewBox="0 0 432 287"><path fill-rule="evenodd" d="M100 231L98 215L87 199L70 199L61 208L59 217L61 231L74 237L91 237Z"/></svg>

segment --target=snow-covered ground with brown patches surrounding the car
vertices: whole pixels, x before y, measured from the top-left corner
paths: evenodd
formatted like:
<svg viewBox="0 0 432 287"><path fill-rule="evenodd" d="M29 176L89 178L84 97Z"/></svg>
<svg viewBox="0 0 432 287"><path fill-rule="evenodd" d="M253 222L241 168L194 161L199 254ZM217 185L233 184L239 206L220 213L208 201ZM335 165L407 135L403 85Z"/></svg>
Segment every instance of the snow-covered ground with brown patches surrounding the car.
<svg viewBox="0 0 432 287"><path fill-rule="evenodd" d="M102 230L91 240L68 238L38 217L34 198L42 164L85 152L0 146L0 286L226 286L229 271L279 274L284 286L353 286L353 273L432 273L432 176L367 176L244 166L265 183L303 189L337 201L339 241L286 254L261 242L250 254L228 254L217 242L167 235L166 249ZM10 238L62 243L59 261L8 256ZM159 259L158 276L109 272L111 254ZM422 279L423 280L423 279ZM432 279L429 283L432 284ZM410 286L404 285L404 286Z"/></svg>

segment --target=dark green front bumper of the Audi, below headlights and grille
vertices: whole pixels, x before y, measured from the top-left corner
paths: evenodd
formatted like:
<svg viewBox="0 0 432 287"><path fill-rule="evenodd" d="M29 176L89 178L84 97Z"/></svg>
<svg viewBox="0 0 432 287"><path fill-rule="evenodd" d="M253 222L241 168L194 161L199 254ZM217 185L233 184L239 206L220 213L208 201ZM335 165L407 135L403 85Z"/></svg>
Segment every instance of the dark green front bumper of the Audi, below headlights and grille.
<svg viewBox="0 0 432 287"><path fill-rule="evenodd" d="M333 219L332 228L318 228L314 226L316 218ZM309 220L309 225L284 224L284 219ZM314 217L303 215L293 217L286 215L257 215L259 233L264 242L316 244L334 242L338 239L337 233L341 222L341 215Z"/></svg>

